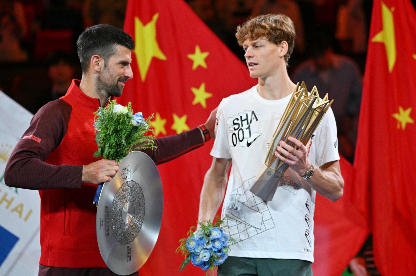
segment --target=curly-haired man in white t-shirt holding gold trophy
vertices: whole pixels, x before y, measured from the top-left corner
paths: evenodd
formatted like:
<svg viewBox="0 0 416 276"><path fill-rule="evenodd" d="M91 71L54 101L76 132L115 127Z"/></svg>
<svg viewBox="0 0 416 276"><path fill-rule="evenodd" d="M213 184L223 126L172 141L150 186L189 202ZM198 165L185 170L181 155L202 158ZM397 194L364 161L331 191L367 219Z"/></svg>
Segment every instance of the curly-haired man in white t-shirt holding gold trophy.
<svg viewBox="0 0 416 276"><path fill-rule="evenodd" d="M232 162L221 217L234 244L218 275L311 276L315 191L336 201L344 186L334 114L327 111L307 146L293 137L288 140L298 150L280 141L275 155L289 169L273 200L253 195L250 188L296 86L287 74L295 29L285 15L260 15L239 26L236 37L258 84L220 103L213 163L205 176L198 219L215 216Z"/></svg>

